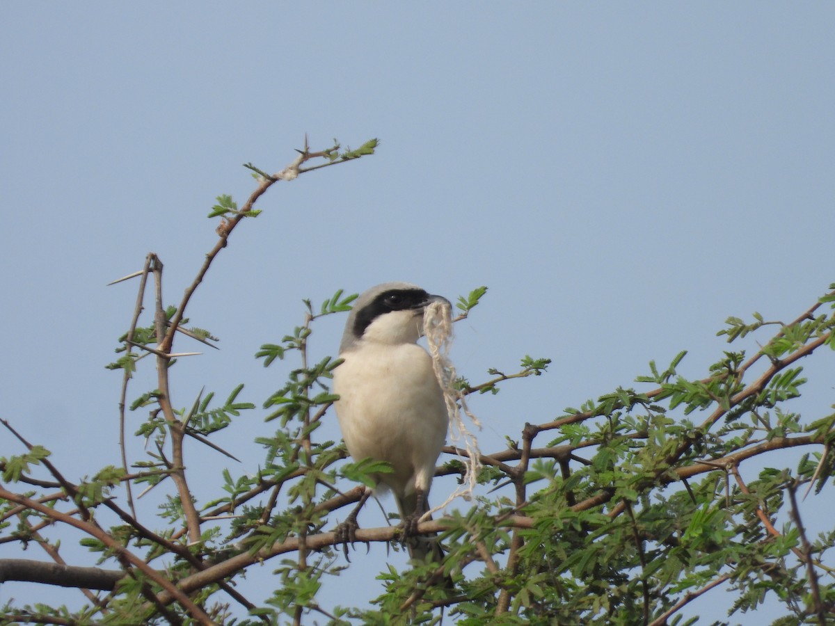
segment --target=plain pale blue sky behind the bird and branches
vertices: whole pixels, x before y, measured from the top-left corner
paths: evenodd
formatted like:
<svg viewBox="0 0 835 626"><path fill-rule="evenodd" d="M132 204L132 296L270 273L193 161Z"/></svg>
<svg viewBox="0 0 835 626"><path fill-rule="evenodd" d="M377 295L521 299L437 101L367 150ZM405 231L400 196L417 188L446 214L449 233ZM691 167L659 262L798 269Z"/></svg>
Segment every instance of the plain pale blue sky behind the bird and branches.
<svg viewBox="0 0 835 626"><path fill-rule="evenodd" d="M106 283L154 251L179 301L215 243L215 196L242 202L240 164L281 169L305 133L382 144L276 185L235 231L189 310L222 350L180 362L175 405L247 382L261 406L287 366L254 354L301 322L301 299L385 280L450 299L488 285L457 329L471 381L554 360L473 401L485 452L650 359L686 349L681 372L703 376L727 316L793 319L835 281L833 32L831 3L3 3L0 413L71 478L118 464L104 365L137 285ZM315 355L343 324L322 321ZM832 404L832 361L815 358L809 421ZM132 396L154 387L143 376ZM233 472L261 462L263 415L221 438L245 458ZM191 458L208 497L229 464ZM835 514L831 497L812 508ZM386 559L357 553L334 602L377 595ZM4 585L0 601L58 593ZM692 613L722 618L723 594Z"/></svg>

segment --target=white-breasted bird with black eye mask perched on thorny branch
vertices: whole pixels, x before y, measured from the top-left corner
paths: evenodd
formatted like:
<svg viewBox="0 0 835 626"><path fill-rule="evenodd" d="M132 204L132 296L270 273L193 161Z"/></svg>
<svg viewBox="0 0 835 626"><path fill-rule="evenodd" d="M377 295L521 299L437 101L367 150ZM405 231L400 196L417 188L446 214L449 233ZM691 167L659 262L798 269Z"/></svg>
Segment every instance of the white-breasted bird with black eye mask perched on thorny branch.
<svg viewBox="0 0 835 626"><path fill-rule="evenodd" d="M407 282L382 283L363 292L348 315L333 391L351 457L391 464L392 472L372 474L374 492L392 492L410 557L425 561L431 555L440 562L443 549L437 538L414 534L429 510L429 487L449 423L432 357L417 345L424 311L433 302L449 305L443 296ZM357 512L369 494L349 516L349 533L357 528Z"/></svg>

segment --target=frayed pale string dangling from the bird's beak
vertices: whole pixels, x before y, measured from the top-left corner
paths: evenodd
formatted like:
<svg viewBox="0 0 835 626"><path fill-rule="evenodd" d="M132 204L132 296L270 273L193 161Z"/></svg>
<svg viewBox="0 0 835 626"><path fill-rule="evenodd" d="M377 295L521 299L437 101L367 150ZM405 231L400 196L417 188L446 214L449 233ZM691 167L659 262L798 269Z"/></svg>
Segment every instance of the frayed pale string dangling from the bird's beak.
<svg viewBox="0 0 835 626"><path fill-rule="evenodd" d="M447 405L450 441L453 443L463 442L463 448L468 454L464 458L464 466L467 468L467 472L464 475L463 485L458 487L447 498L446 502L434 507L432 511L423 516L428 517L433 512L446 507L458 496L465 500L470 500L473 497L473 490L478 483L478 471L481 469L481 461L479 460L481 452L478 450L478 439L472 432L469 432L461 413L463 412L464 415L468 416L470 422L473 422L473 426L479 430L481 430L481 422L478 422L478 417L474 416L467 408L463 393L454 387L455 366L449 360L449 348L453 343L452 307L443 302L433 302L428 305L423 314L423 334L428 342L429 356L432 356L435 377L438 379L438 384L443 391L443 400Z"/></svg>

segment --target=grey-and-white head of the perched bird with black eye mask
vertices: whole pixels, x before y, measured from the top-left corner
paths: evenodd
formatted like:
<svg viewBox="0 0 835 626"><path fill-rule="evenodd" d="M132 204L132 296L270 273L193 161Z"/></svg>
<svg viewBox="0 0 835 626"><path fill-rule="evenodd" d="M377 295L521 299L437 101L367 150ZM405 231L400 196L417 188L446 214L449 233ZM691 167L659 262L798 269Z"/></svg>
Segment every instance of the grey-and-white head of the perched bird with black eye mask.
<svg viewBox="0 0 835 626"><path fill-rule="evenodd" d="M423 311L433 302L449 304L411 283L383 283L363 292L348 315L340 354L366 342L414 343L423 335Z"/></svg>

